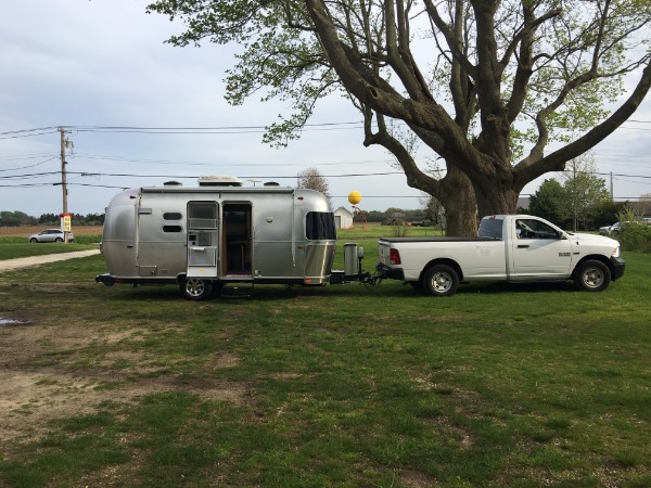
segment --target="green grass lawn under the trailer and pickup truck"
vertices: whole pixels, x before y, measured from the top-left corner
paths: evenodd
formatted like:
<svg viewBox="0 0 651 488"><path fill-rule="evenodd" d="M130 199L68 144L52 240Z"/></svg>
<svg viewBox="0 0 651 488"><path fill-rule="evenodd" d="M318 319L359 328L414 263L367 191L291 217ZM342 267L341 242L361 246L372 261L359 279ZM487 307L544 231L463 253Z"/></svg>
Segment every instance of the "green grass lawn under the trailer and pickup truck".
<svg viewBox="0 0 651 488"><path fill-rule="evenodd" d="M379 229L340 232L367 269ZM94 337L2 365L107 398L0 439L0 486L649 486L651 259L624 257L603 293L444 299L385 281L191 303L95 284L101 256L0 274L0 317Z"/></svg>

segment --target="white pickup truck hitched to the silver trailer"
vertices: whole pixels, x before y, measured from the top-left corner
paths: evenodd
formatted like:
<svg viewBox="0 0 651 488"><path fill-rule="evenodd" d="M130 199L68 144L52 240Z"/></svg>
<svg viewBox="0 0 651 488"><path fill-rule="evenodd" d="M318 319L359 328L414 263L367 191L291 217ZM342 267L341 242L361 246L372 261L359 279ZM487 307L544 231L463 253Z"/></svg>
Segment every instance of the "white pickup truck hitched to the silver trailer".
<svg viewBox="0 0 651 488"><path fill-rule="evenodd" d="M600 292L624 275L620 243L565 232L538 217L484 217L477 237L382 237L382 278L422 286L434 296L457 292L460 282L573 280Z"/></svg>

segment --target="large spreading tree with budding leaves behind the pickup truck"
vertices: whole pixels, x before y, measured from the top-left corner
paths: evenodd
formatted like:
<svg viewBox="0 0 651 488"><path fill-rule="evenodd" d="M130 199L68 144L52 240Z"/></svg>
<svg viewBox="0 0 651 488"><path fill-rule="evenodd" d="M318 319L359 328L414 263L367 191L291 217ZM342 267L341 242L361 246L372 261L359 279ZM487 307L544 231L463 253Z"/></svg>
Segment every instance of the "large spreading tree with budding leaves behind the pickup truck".
<svg viewBox="0 0 651 488"><path fill-rule="evenodd" d="M526 183L602 141L651 87L648 0L158 0L148 9L183 20L173 44L241 44L227 99L266 89L264 99L294 108L269 127L269 142L297 137L320 98L348 97L365 117L363 143L390 151L410 187L444 204L450 233L473 233L477 210L514 211ZM635 86L620 99L627 77ZM443 178L417 166L396 120L445 160ZM570 130L573 142L549 149Z"/></svg>

